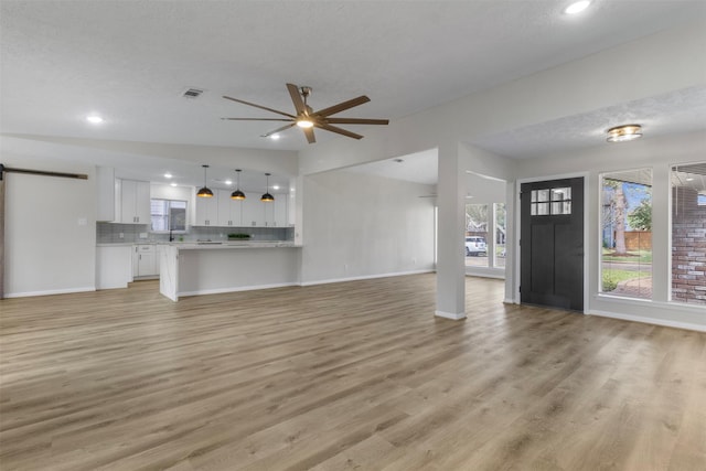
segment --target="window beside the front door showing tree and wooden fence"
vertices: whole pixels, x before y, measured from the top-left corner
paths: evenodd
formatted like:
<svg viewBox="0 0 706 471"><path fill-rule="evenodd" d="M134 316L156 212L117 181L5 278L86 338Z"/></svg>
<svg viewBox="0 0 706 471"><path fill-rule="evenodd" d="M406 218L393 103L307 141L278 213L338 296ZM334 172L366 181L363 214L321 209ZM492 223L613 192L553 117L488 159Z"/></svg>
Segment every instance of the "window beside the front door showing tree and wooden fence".
<svg viewBox="0 0 706 471"><path fill-rule="evenodd" d="M601 178L601 291L652 298L652 170Z"/></svg>

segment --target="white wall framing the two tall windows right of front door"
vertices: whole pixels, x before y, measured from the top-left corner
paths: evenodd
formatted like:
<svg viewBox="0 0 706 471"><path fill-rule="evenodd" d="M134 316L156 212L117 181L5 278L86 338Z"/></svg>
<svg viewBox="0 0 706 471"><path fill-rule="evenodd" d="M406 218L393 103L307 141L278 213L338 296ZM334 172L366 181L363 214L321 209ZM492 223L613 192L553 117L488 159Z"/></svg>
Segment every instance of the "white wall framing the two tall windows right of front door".
<svg viewBox="0 0 706 471"><path fill-rule="evenodd" d="M571 152L570 156L549 156L544 159L521 160L515 176L546 178L570 173L588 175L586 214L588 308L589 313L621 319L646 321L665 325L706 330L706 308L667 302L671 267L670 169L674 164L704 161L706 132L644 138L633 142L608 144ZM652 278L653 300L617 299L600 295L600 173L609 171L652 169ZM515 194L516 197L516 194ZM516 283L515 283L516 288ZM516 290L515 290L516 292Z"/></svg>

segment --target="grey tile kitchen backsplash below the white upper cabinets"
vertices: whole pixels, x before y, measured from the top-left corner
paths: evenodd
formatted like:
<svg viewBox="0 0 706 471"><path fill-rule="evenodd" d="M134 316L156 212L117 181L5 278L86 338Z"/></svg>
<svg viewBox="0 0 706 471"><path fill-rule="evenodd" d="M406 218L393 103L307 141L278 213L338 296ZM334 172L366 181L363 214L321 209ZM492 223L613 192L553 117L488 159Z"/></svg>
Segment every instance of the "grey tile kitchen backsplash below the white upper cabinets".
<svg viewBox="0 0 706 471"><path fill-rule="evenodd" d="M174 240L227 240L228 234L249 234L250 240L293 240L293 227L190 227L185 234L174 234ZM169 234L149 232L147 224L96 223L96 243L120 244L169 242Z"/></svg>

